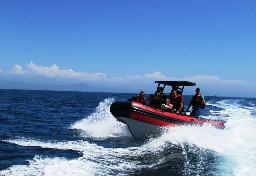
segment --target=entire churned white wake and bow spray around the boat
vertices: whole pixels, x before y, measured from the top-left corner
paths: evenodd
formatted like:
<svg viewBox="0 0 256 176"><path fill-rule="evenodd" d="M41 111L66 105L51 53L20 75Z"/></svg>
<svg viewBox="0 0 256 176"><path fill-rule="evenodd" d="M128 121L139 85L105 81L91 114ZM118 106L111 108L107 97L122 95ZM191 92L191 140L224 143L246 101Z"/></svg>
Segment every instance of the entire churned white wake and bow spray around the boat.
<svg viewBox="0 0 256 176"><path fill-rule="evenodd" d="M100 102L94 113L70 128L80 129L81 136L89 135L96 140L131 136L126 125L117 122L109 112L112 102L113 98ZM158 168L165 167L180 175L254 175L256 107L248 108L237 100L212 102L211 105L221 110L209 111L206 118L226 121L225 129L209 125L163 128L160 137L138 141L137 146L104 147L84 140L40 141L10 136L1 141L20 146L72 149L82 156L67 159L36 155L27 165L14 165L0 171L0 175L153 175Z"/></svg>

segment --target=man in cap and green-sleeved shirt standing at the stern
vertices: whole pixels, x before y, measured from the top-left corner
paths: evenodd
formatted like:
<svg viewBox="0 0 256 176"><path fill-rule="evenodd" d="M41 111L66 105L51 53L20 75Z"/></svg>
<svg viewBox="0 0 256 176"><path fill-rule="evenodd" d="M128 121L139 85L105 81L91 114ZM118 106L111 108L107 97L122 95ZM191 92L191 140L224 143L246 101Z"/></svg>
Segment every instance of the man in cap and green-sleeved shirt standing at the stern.
<svg viewBox="0 0 256 176"><path fill-rule="evenodd" d="M192 100L190 101L186 112L188 112L189 108L192 106L192 112L189 116L201 117L201 106L205 104L206 101L204 99L204 96L200 94L200 88L197 88L196 94L192 97Z"/></svg>

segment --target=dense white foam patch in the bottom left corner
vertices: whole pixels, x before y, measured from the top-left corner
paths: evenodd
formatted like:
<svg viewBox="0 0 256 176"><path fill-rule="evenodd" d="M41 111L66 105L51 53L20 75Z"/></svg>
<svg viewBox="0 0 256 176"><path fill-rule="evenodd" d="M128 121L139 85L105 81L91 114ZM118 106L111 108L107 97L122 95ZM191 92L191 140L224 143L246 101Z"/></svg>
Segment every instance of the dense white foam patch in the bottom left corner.
<svg viewBox="0 0 256 176"><path fill-rule="evenodd" d="M0 171L3 176L7 175L95 175L101 169L96 163L78 158L66 160L65 158L42 158L35 156L28 160L29 165L15 165Z"/></svg>

